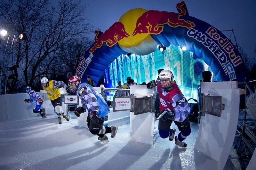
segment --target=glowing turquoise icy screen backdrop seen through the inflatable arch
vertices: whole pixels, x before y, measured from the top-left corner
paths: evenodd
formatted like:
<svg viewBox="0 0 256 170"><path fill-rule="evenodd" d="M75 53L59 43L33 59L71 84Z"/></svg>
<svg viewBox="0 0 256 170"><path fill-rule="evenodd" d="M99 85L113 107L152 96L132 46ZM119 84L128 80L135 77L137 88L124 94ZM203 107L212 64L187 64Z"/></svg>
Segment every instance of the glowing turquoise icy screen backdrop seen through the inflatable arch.
<svg viewBox="0 0 256 170"><path fill-rule="evenodd" d="M156 80L157 70L161 68L173 72L174 80L187 100L189 98L198 100L197 88L202 79L202 71L210 70L210 67L192 52L183 51L180 47L171 45L163 52L157 49L148 55L119 56L105 70L105 87L115 88L118 81L123 85L128 76L131 76L138 85L142 82L148 83L153 79ZM213 75L212 81L214 80ZM113 100L113 95L113 92L109 92L108 100Z"/></svg>

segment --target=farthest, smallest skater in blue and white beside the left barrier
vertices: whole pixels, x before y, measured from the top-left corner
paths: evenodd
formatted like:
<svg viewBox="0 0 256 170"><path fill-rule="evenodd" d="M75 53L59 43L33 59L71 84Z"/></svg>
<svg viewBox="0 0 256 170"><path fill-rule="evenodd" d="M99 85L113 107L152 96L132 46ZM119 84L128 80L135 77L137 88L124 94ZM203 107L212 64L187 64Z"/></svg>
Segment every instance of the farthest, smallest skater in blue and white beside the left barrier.
<svg viewBox="0 0 256 170"><path fill-rule="evenodd" d="M38 94L34 90L31 90L30 86L26 87L26 92L29 95L29 99L25 99L24 102L32 103L33 101L35 101L36 106L33 109L33 113L35 113L35 114L39 113L41 115L41 117L45 118L46 117L45 109L44 108L41 109L41 106L44 101L41 99L40 94Z"/></svg>

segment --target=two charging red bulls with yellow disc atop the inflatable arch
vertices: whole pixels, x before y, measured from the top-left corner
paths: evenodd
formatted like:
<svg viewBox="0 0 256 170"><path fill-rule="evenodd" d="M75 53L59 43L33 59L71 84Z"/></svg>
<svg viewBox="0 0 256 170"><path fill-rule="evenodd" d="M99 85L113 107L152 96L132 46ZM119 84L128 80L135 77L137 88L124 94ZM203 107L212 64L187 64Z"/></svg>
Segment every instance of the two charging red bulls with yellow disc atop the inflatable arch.
<svg viewBox="0 0 256 170"><path fill-rule="evenodd" d="M118 22L115 22L103 34L99 35L99 31L94 32L96 43L89 52L93 53L97 48L101 48L104 42L108 47L118 43L120 47L130 48L140 44L149 34L160 34L166 24L171 27L181 26L188 29L194 27L193 22L180 18L180 16L188 15L185 2L178 3L176 7L179 13L147 11L141 8L130 10L132 13L127 11Z"/></svg>

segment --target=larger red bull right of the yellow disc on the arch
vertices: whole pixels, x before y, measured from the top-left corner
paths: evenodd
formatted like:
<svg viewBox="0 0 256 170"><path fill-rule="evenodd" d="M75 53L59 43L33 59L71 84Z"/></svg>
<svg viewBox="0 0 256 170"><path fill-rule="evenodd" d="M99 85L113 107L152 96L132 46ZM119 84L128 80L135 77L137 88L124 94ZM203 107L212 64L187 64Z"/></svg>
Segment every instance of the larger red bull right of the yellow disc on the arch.
<svg viewBox="0 0 256 170"><path fill-rule="evenodd" d="M165 24L171 27L194 27L195 24L193 22L180 19L180 16L186 15L187 13L186 9L182 7L184 4L185 2L182 1L176 5L177 9L180 11L179 13L153 10L143 13L137 20L132 35L134 36L140 33L160 34Z"/></svg>

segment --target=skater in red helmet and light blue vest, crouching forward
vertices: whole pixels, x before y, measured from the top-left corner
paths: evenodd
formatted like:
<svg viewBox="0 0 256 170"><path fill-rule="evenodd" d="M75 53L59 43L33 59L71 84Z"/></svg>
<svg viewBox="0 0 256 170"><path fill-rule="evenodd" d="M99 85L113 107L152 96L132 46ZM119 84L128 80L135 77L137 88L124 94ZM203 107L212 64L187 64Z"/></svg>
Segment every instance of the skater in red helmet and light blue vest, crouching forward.
<svg viewBox="0 0 256 170"><path fill-rule="evenodd" d="M100 141L109 141L106 136L111 133L111 137L116 136L118 127L103 126L104 117L110 112L108 104L103 99L101 94L87 83L80 83L78 76L72 76L68 80L68 87L71 91L76 92L76 95L82 100L83 106L75 110L75 115L80 116L85 110L88 111L87 126L93 135L97 135Z"/></svg>

